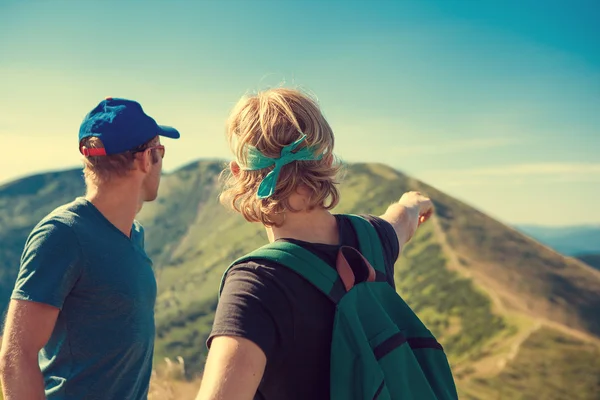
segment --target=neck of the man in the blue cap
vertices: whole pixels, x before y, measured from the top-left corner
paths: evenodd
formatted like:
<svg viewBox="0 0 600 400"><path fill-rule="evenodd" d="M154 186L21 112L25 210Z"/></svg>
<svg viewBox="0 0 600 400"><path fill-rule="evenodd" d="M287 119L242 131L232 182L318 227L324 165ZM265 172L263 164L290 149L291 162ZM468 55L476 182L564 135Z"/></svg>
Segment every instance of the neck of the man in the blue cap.
<svg viewBox="0 0 600 400"><path fill-rule="evenodd" d="M140 190L128 181L111 181L109 184L88 186L85 195L102 215L127 237L136 214L142 208Z"/></svg>

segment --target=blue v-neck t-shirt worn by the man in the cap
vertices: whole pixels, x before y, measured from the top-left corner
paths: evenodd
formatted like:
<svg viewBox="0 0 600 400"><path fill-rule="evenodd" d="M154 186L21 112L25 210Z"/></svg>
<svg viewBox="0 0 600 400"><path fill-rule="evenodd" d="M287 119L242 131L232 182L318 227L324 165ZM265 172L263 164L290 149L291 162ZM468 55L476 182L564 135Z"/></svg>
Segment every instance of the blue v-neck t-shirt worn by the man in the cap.
<svg viewBox="0 0 600 400"><path fill-rule="evenodd" d="M83 198L31 232L13 299L60 309L40 351L48 399L146 399L156 280L135 222L131 238Z"/></svg>

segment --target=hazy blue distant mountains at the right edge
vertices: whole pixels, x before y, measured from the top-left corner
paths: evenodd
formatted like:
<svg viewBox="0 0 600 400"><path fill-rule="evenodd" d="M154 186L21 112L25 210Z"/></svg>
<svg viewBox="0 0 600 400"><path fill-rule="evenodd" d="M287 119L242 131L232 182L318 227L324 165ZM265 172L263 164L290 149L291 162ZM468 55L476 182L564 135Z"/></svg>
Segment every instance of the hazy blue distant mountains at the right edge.
<svg viewBox="0 0 600 400"><path fill-rule="evenodd" d="M600 225L566 227L519 225L516 228L565 255L600 253Z"/></svg>

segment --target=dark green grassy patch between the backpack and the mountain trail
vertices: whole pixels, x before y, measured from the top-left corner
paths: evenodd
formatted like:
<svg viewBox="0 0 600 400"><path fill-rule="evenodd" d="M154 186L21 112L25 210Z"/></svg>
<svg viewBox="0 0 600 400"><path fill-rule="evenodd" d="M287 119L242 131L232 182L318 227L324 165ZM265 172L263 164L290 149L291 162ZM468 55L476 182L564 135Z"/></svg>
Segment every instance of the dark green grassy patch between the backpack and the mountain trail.
<svg viewBox="0 0 600 400"><path fill-rule="evenodd" d="M423 225L396 265L398 292L438 337L450 361L481 352L507 328L472 281L450 271L431 224Z"/></svg>

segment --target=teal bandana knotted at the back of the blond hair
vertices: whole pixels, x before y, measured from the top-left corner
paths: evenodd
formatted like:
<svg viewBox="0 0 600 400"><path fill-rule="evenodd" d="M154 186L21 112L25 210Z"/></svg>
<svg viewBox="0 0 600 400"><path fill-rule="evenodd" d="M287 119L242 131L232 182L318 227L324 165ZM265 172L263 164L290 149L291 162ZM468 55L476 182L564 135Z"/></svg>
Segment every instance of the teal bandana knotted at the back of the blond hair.
<svg viewBox="0 0 600 400"><path fill-rule="evenodd" d="M320 160L323 155L320 154L315 156L315 153L310 147L304 147L303 149L293 153L293 151L306 139L306 135L302 134L302 137L293 143L288 144L281 149L281 155L279 158L270 158L262 154L256 147L248 145L248 155L246 164L242 169L246 171L255 171L263 168L268 168L275 165L275 168L265 176L258 187L257 196L259 199L266 199L271 197L275 193L277 186L277 179L279 178L279 172L281 167L289 164L293 161L314 161Z"/></svg>

